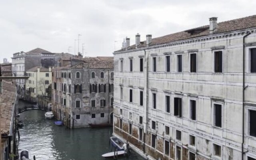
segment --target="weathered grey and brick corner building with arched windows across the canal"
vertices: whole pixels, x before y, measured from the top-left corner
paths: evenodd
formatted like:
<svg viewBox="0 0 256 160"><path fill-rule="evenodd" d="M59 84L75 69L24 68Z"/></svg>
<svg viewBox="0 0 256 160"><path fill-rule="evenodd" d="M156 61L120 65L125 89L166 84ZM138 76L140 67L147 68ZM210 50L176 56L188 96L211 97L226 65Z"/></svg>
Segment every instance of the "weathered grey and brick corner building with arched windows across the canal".
<svg viewBox="0 0 256 160"><path fill-rule="evenodd" d="M113 57L71 60L52 70L52 111L69 128L111 124Z"/></svg>

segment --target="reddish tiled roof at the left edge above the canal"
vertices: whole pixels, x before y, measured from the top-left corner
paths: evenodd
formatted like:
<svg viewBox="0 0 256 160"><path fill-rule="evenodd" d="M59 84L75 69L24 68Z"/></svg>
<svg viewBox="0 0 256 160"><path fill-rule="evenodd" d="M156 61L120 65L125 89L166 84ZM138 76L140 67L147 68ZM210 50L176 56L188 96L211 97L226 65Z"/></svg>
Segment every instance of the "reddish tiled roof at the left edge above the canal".
<svg viewBox="0 0 256 160"><path fill-rule="evenodd" d="M2 80L0 94L0 130L1 135L7 136L11 131L12 113L16 103L16 87L11 82Z"/></svg>

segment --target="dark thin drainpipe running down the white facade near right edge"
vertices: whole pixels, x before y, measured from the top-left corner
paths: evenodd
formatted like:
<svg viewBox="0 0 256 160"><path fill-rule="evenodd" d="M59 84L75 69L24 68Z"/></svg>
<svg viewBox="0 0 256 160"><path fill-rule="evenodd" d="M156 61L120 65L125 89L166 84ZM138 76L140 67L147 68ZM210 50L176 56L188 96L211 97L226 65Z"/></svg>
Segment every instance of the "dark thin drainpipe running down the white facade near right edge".
<svg viewBox="0 0 256 160"><path fill-rule="evenodd" d="M247 36L249 36L251 33L247 33L244 37L243 37L243 124L242 124L242 127L243 127L243 135L242 135L242 160L244 160L244 90L246 89L245 88L245 52L244 52L244 49L245 49L245 38Z"/></svg>

